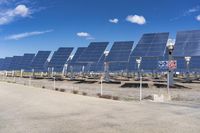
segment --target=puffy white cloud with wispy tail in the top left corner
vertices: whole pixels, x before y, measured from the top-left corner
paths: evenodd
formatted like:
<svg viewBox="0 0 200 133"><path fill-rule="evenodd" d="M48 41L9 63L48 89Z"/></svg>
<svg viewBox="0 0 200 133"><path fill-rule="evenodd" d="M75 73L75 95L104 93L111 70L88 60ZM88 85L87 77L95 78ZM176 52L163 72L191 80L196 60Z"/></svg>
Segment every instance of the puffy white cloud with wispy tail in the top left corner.
<svg viewBox="0 0 200 133"><path fill-rule="evenodd" d="M26 5L18 5L14 9L8 9L0 12L0 25L12 22L17 17L27 17L31 14L30 9Z"/></svg>

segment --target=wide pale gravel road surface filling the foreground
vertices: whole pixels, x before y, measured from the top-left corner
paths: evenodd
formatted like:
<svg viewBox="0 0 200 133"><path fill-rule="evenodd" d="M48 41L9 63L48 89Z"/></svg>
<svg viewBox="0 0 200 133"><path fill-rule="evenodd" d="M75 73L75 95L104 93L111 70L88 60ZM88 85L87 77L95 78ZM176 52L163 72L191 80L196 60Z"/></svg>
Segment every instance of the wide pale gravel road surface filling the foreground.
<svg viewBox="0 0 200 133"><path fill-rule="evenodd" d="M114 101L0 82L0 133L199 133L200 104Z"/></svg>

